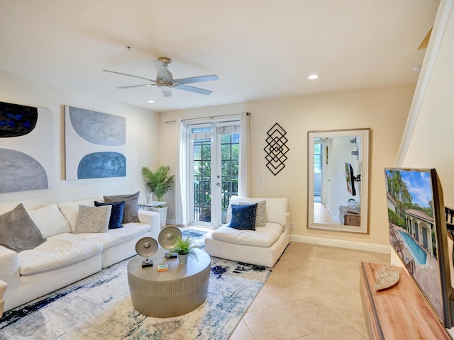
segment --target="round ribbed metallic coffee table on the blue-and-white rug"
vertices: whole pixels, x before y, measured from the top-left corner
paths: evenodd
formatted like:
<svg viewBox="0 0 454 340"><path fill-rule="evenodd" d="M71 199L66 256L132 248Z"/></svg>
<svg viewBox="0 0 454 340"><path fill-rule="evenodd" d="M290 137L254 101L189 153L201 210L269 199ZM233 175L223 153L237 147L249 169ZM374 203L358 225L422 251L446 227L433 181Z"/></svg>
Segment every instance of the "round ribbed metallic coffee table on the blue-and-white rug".
<svg viewBox="0 0 454 340"><path fill-rule="evenodd" d="M187 264L165 259L167 249L160 248L150 257L153 267L142 268L143 258L135 256L128 263L128 284L135 310L149 317L176 317L199 307L206 300L211 271L209 254L195 249L197 259L189 256ZM167 263L168 271L157 271Z"/></svg>

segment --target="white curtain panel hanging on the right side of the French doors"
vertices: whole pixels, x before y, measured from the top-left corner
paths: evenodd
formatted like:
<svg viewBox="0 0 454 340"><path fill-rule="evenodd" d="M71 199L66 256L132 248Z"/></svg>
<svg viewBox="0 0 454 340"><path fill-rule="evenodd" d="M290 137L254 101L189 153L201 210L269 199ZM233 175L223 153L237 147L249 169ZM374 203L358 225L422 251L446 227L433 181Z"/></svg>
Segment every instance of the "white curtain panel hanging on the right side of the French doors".
<svg viewBox="0 0 454 340"><path fill-rule="evenodd" d="M249 197L249 115L242 112L240 114L240 159L238 174L238 196Z"/></svg>

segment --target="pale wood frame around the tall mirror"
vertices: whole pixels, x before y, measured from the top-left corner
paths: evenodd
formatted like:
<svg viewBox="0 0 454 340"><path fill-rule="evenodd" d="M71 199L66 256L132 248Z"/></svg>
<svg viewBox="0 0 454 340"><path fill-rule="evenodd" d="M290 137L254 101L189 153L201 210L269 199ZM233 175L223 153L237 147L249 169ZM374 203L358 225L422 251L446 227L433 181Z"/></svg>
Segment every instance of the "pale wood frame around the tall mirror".
<svg viewBox="0 0 454 340"><path fill-rule="evenodd" d="M308 171L307 171L307 227L309 229L323 229L339 232L368 233L369 212L369 171L370 171L370 128L353 130L321 130L307 132ZM336 225L314 222L314 140L316 138L361 136L361 186L360 186L360 226ZM324 160L323 156L323 160ZM323 162L322 160L322 162ZM346 184L345 184L346 185ZM345 188L345 190L347 190ZM345 203L347 205L348 203ZM334 207L333 207L334 208Z"/></svg>

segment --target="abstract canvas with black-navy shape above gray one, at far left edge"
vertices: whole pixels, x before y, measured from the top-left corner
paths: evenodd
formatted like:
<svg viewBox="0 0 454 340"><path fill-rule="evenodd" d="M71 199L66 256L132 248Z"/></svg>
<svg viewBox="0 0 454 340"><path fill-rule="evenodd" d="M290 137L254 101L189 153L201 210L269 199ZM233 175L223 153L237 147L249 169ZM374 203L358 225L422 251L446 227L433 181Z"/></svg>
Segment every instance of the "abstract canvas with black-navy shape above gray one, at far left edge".
<svg viewBox="0 0 454 340"><path fill-rule="evenodd" d="M0 193L51 187L50 124L48 109L0 102Z"/></svg>

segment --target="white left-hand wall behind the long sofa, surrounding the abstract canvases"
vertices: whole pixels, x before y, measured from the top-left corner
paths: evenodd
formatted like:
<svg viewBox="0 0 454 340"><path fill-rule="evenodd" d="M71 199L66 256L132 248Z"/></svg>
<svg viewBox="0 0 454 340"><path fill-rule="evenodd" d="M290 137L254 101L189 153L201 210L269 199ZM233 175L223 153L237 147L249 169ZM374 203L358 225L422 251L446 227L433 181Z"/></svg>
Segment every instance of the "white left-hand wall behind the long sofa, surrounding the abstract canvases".
<svg viewBox="0 0 454 340"><path fill-rule="evenodd" d="M33 209L48 203L135 193L139 190L142 191L140 198L145 200L140 168L143 165L157 166L155 145L159 142L159 113L118 103L113 98L103 98L96 93L55 87L1 71L0 101L50 109L54 141L51 151L54 172L52 188L0 193L0 212L11 210L18 203ZM126 177L65 181L65 105L126 117Z"/></svg>

